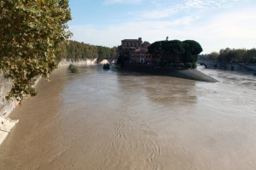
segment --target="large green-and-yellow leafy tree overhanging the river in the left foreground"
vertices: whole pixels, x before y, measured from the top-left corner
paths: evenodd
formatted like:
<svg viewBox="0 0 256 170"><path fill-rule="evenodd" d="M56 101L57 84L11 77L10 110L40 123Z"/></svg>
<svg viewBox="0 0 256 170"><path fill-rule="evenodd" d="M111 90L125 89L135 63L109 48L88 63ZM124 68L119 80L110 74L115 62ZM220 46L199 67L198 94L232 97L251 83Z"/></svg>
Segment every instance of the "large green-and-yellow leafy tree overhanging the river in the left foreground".
<svg viewBox="0 0 256 170"><path fill-rule="evenodd" d="M0 70L13 81L8 99L21 100L36 77L58 65L56 49L70 37L68 0L0 0Z"/></svg>

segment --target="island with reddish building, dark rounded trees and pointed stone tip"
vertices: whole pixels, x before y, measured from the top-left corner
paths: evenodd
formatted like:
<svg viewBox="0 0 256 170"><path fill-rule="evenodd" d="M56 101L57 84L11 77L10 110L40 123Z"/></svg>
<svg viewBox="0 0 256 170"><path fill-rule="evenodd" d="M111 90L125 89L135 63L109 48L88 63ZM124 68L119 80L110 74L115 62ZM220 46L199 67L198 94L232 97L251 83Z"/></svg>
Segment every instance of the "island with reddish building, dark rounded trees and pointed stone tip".
<svg viewBox="0 0 256 170"><path fill-rule="evenodd" d="M154 43L138 39L124 39L118 47L117 64L121 69L160 76L179 77L203 82L217 82L197 71L196 61L202 51L193 40L166 40Z"/></svg>

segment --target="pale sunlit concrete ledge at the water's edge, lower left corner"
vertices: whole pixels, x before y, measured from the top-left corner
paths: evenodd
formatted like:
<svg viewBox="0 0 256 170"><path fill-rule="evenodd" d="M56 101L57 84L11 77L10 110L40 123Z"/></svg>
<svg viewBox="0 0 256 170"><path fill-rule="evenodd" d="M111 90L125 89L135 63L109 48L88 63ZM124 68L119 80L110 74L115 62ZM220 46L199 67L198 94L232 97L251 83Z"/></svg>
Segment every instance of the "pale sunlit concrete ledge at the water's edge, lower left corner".
<svg viewBox="0 0 256 170"><path fill-rule="evenodd" d="M0 145L17 122L19 122L19 120L11 120L8 117L0 116Z"/></svg>

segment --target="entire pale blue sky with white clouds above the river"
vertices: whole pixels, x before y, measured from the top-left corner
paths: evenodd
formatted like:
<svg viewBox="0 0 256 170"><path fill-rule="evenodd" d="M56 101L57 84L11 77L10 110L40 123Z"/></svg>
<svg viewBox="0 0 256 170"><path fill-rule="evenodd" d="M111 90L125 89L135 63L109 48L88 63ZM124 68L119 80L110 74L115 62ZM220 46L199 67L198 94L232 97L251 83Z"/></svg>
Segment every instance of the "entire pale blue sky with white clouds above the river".
<svg viewBox="0 0 256 170"><path fill-rule="evenodd" d="M69 0L71 39L113 47L123 39L193 39L202 54L256 48L256 0Z"/></svg>

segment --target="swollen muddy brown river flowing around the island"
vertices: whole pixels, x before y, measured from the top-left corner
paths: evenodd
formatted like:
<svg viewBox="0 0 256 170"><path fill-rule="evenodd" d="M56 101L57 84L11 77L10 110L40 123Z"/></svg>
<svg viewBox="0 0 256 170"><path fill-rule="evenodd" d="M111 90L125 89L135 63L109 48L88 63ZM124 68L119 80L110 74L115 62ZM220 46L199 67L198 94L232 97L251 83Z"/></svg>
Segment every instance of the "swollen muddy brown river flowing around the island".
<svg viewBox="0 0 256 170"><path fill-rule="evenodd" d="M60 68L11 114L0 169L255 170L256 77Z"/></svg>

